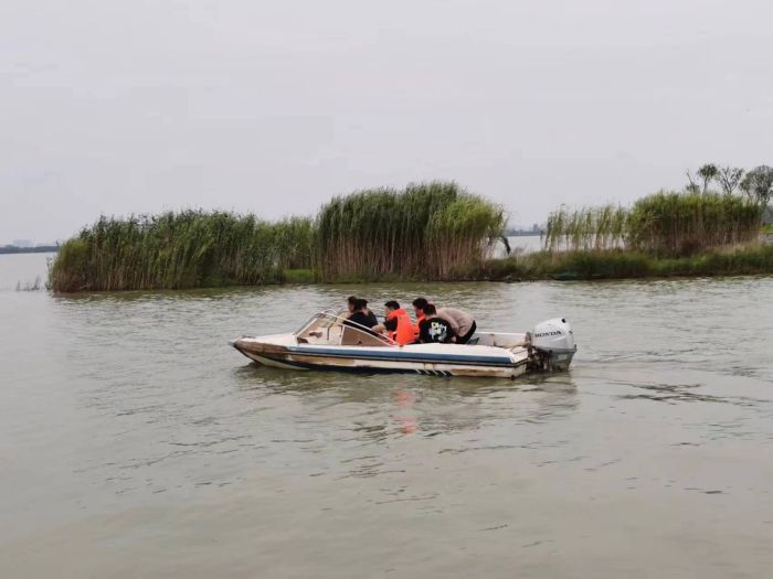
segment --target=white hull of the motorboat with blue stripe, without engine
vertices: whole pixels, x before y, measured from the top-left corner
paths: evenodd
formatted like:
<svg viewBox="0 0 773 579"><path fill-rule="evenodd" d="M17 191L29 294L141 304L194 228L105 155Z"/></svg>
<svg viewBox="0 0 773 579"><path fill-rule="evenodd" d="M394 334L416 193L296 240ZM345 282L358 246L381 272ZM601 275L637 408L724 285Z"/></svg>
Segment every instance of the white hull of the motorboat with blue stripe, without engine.
<svg viewBox="0 0 773 579"><path fill-rule="evenodd" d="M317 346L298 344L292 335L277 335L242 337L232 345L260 364L286 369L515 378L529 363L526 350L457 344Z"/></svg>

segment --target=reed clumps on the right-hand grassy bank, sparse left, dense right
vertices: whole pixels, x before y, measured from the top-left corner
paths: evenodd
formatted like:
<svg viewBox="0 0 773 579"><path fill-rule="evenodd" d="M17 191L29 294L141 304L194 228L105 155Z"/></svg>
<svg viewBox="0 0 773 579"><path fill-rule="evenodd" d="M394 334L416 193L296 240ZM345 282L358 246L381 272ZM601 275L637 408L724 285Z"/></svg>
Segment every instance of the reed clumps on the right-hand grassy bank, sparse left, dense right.
<svg viewBox="0 0 773 579"><path fill-rule="evenodd" d="M632 208L614 205L553 212L546 230L549 251L627 248L684 256L712 247L752 243L763 207L739 195L658 192Z"/></svg>

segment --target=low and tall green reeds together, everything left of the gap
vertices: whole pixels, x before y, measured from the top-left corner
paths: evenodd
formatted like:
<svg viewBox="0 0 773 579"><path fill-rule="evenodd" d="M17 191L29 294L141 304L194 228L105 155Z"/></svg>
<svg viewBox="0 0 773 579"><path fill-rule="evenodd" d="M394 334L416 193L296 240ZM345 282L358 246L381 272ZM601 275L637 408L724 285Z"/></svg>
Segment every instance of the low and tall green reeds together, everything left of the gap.
<svg viewBox="0 0 773 579"><path fill-rule="evenodd" d="M298 270L321 281L446 279L454 265L489 257L504 226L500 206L443 182L361 191L335 197L316 218L275 223L202 211L100 217L62 245L49 285L253 286L297 279Z"/></svg>

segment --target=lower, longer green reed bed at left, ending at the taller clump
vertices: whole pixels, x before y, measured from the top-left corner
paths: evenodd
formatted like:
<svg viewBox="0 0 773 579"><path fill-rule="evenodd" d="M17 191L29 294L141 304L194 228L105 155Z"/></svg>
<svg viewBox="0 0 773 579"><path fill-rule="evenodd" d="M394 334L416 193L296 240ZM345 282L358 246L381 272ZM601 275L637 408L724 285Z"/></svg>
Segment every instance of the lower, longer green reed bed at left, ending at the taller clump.
<svg viewBox="0 0 773 579"><path fill-rule="evenodd" d="M182 289L280 282L311 267L313 224L186 211L102 217L62 245L50 270L55 291Z"/></svg>

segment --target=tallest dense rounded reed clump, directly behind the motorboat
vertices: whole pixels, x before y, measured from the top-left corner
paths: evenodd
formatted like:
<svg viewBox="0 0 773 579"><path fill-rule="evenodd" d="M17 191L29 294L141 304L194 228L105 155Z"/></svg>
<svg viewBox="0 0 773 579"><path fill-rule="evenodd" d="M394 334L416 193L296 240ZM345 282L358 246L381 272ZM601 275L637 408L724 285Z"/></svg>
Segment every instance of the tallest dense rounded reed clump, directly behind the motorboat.
<svg viewBox="0 0 773 579"><path fill-rule="evenodd" d="M490 255L505 214L455 183L432 182L335 197L316 224L324 280L444 279Z"/></svg>

